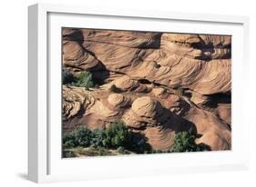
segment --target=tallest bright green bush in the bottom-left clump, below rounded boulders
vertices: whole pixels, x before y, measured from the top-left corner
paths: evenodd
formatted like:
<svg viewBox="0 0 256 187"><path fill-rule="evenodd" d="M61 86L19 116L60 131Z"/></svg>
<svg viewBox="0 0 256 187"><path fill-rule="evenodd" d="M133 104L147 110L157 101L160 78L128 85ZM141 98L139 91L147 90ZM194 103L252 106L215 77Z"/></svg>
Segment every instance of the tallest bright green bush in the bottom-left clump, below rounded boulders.
<svg viewBox="0 0 256 187"><path fill-rule="evenodd" d="M130 140L130 133L125 123L116 121L110 124L106 129L106 139L104 144L108 148L127 147Z"/></svg>

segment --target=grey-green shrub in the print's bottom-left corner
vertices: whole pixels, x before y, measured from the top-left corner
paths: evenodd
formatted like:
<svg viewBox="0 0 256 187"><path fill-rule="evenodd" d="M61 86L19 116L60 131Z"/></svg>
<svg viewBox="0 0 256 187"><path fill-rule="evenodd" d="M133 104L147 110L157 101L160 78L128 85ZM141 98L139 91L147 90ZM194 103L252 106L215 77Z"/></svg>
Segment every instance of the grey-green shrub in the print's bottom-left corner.
<svg viewBox="0 0 256 187"><path fill-rule="evenodd" d="M87 147L90 145L92 133L87 127L78 126L71 133L64 133L63 146L72 148L77 146Z"/></svg>

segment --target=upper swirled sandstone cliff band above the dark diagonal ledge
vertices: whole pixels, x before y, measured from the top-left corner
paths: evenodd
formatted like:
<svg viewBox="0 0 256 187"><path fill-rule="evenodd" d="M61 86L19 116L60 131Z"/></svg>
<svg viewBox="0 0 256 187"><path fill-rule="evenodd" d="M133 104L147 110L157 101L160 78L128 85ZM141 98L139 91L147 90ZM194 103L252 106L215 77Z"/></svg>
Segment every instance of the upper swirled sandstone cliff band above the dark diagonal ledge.
<svg viewBox="0 0 256 187"><path fill-rule="evenodd" d="M230 91L230 54L219 55L219 49L230 50L230 36L157 35L74 30L64 36L64 65L71 63L74 71L85 71L100 61L109 72L171 88L182 86L200 94ZM216 53L223 59L216 58Z"/></svg>

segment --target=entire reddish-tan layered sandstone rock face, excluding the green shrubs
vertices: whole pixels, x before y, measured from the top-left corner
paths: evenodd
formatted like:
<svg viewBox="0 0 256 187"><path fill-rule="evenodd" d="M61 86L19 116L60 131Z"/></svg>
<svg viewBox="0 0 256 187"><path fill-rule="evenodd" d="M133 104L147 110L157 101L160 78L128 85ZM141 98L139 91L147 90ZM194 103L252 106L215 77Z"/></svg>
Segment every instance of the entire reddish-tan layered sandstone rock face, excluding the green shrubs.
<svg viewBox="0 0 256 187"><path fill-rule="evenodd" d="M64 130L120 119L156 150L191 128L197 143L229 150L230 46L224 35L63 29L63 67L101 83L89 91L63 85Z"/></svg>

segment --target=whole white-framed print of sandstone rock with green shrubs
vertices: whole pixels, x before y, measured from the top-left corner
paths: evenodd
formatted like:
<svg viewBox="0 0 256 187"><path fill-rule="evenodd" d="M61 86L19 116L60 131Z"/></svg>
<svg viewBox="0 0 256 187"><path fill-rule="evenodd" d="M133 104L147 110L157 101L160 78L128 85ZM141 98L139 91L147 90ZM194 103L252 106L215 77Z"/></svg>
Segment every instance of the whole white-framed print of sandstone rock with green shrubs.
<svg viewBox="0 0 256 187"><path fill-rule="evenodd" d="M248 167L248 18L29 7L29 179Z"/></svg>

